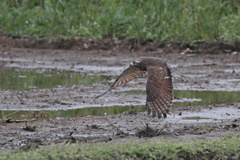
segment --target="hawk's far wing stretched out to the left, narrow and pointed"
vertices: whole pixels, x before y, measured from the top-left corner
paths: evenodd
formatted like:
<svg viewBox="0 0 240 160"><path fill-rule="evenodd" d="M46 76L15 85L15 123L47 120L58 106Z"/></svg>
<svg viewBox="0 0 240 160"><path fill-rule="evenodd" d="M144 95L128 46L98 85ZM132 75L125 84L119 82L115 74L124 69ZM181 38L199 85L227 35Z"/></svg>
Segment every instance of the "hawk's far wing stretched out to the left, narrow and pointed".
<svg viewBox="0 0 240 160"><path fill-rule="evenodd" d="M103 94L101 94L95 98L99 98L99 97L105 95L108 91L110 91L116 87L119 87L121 85L124 85L127 82L129 82L135 78L143 76L143 74L145 72L146 71L141 71L139 68L134 67L134 66L128 67L127 69L125 69L122 72L122 74L120 76L118 76L118 78L115 80L115 82L111 85L111 87L106 92L104 92Z"/></svg>

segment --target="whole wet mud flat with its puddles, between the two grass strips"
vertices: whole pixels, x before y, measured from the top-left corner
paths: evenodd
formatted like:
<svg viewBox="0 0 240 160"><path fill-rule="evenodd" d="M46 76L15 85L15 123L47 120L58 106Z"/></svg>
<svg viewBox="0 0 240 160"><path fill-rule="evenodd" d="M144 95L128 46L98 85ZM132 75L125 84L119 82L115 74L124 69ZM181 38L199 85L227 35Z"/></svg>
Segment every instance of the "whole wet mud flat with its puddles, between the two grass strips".
<svg viewBox="0 0 240 160"><path fill-rule="evenodd" d="M95 99L141 56L161 57L172 70L175 103L166 119L147 116L146 78ZM236 51L10 48L0 52L0 76L1 152L52 142L189 141L240 133L240 53ZM178 95L183 90L191 91ZM206 97L193 96L201 91ZM212 102L213 91L229 94Z"/></svg>

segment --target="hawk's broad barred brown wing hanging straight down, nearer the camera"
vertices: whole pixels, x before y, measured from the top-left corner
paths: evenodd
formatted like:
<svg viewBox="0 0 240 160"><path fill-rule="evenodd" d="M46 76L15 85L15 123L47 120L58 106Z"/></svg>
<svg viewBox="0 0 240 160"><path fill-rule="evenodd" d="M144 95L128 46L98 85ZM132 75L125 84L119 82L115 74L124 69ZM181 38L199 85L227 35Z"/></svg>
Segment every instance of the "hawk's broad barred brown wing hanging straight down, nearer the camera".
<svg viewBox="0 0 240 160"><path fill-rule="evenodd" d="M147 102L148 114L153 117L162 115L166 118L172 104L172 77L166 66L152 66L147 68Z"/></svg>

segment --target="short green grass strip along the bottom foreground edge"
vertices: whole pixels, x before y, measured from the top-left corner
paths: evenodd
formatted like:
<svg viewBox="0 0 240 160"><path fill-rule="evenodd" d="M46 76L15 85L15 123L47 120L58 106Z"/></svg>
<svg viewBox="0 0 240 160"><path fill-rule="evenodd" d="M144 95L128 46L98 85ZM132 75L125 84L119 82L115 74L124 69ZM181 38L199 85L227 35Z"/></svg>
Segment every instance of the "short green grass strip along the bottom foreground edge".
<svg viewBox="0 0 240 160"><path fill-rule="evenodd" d="M129 142L123 144L61 144L37 150L7 153L7 159L238 159L240 138L230 137L213 141L192 142Z"/></svg>

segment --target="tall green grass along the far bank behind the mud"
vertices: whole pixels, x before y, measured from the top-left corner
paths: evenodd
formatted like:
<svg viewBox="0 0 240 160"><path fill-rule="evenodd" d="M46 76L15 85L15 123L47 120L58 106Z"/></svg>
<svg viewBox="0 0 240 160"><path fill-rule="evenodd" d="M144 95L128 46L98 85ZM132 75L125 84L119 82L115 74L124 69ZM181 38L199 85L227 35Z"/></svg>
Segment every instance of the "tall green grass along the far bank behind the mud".
<svg viewBox="0 0 240 160"><path fill-rule="evenodd" d="M16 37L240 40L239 0L2 0L0 30Z"/></svg>

